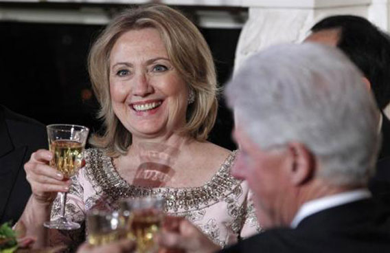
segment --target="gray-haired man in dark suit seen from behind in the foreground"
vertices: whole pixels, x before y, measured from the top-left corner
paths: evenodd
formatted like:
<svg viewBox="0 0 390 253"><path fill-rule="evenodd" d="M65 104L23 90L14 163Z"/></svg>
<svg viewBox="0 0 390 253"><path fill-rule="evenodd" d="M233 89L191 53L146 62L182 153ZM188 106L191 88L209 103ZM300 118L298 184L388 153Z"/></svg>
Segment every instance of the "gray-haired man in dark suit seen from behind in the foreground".
<svg viewBox="0 0 390 253"><path fill-rule="evenodd" d="M361 74L334 47L277 45L228 83L240 146L232 174L253 192L265 231L222 252L389 252L390 210L371 197L380 110ZM213 252L189 221L164 247Z"/></svg>

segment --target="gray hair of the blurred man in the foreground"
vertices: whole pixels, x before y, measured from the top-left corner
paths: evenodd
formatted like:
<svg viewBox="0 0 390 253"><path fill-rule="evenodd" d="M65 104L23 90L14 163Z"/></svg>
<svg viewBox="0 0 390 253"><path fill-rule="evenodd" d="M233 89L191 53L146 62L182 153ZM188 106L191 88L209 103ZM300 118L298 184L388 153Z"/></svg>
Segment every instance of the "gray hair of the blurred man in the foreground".
<svg viewBox="0 0 390 253"><path fill-rule="evenodd" d="M332 184L367 184L380 146L374 97L333 47L277 45L249 58L228 83L236 124L258 144L300 142Z"/></svg>

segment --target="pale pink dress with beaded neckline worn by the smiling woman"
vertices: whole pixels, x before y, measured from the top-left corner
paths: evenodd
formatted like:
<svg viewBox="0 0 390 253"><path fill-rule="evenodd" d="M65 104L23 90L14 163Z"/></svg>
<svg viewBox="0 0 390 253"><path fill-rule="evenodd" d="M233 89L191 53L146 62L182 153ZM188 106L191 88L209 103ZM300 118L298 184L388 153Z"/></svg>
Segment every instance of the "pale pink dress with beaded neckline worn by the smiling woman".
<svg viewBox="0 0 390 253"><path fill-rule="evenodd" d="M120 199L160 195L165 197L165 212L185 217L222 247L251 236L261 228L255 217L251 192L246 182L230 175L237 151L232 151L217 173L196 188L145 188L128 184L113 165L111 157L98 148L86 151L86 165L72 178L67 195L66 216L82 226L80 230L54 231L51 245L69 245L69 250L85 240L87 210L115 210ZM59 216L59 198L51 208L51 219Z"/></svg>

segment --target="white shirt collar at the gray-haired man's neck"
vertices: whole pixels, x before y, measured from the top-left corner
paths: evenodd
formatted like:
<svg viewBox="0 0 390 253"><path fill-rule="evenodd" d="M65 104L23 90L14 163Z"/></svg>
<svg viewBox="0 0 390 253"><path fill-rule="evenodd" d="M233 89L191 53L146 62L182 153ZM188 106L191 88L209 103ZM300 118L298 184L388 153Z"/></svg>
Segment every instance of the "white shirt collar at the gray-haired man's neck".
<svg viewBox="0 0 390 253"><path fill-rule="evenodd" d="M366 188L363 188L308 201L303 203L301 208L299 208L294 219L292 219L290 227L297 228L299 222L316 212L333 208L335 206L341 206L345 203L358 201L360 199L368 199L369 197L371 197L371 193Z"/></svg>

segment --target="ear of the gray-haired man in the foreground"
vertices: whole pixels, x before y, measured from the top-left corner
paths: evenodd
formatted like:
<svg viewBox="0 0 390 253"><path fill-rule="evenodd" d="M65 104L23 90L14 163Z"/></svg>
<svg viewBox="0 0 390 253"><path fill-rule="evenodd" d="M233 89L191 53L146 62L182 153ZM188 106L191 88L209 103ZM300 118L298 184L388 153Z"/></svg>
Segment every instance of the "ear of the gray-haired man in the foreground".
<svg viewBox="0 0 390 253"><path fill-rule="evenodd" d="M315 161L312 153L299 142L290 142L288 152L290 155L290 182L295 186L305 184L314 175Z"/></svg>

